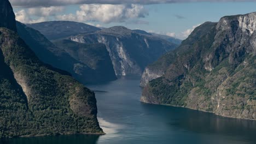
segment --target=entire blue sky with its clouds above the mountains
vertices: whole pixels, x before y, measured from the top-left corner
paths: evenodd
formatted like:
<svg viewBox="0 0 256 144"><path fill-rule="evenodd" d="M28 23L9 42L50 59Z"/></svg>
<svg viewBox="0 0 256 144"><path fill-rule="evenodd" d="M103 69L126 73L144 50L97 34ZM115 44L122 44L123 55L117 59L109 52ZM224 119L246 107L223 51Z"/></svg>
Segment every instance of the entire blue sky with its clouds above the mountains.
<svg viewBox="0 0 256 144"><path fill-rule="evenodd" d="M10 0L23 23L68 20L96 27L125 26L185 39L203 22L256 11L245 0Z"/></svg>

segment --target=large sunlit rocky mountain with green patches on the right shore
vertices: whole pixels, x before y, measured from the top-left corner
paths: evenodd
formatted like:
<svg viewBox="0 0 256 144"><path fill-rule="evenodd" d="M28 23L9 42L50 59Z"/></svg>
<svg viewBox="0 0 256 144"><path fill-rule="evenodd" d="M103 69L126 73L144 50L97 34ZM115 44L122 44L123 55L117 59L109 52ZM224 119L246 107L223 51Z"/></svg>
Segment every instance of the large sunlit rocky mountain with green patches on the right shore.
<svg viewBox="0 0 256 144"><path fill-rule="evenodd" d="M158 78L143 83L141 101L255 120L255 25L256 13L250 13L195 28L144 71L145 79Z"/></svg>

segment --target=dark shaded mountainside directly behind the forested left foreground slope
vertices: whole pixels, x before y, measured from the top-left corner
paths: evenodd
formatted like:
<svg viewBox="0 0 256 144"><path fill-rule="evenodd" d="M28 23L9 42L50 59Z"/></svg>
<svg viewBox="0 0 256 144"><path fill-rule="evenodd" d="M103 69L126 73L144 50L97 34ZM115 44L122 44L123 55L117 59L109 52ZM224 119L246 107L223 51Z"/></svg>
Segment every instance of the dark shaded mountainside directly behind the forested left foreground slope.
<svg viewBox="0 0 256 144"><path fill-rule="evenodd" d="M106 46L55 40L53 44L39 31L20 22L18 33L41 61L66 70L83 83L107 82L117 79Z"/></svg>

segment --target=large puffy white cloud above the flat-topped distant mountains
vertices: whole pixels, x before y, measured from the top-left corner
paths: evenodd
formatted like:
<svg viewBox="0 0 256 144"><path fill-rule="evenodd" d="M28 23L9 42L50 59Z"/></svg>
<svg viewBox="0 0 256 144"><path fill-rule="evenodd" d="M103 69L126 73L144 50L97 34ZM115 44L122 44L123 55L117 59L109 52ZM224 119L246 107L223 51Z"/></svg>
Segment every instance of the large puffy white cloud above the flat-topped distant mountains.
<svg viewBox="0 0 256 144"><path fill-rule="evenodd" d="M76 14L57 15L58 20L98 21L103 23L125 22L145 17L148 11L138 4L83 4Z"/></svg>

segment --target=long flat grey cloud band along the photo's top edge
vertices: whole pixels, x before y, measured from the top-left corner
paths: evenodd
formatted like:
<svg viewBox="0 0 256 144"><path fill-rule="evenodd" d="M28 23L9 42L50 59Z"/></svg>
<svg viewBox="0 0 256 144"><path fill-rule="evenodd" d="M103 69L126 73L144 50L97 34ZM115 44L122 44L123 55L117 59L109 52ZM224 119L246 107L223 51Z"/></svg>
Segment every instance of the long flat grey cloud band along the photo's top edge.
<svg viewBox="0 0 256 144"><path fill-rule="evenodd" d="M183 2L245 2L254 0L10 0L14 7L51 7L71 4L159 4Z"/></svg>

